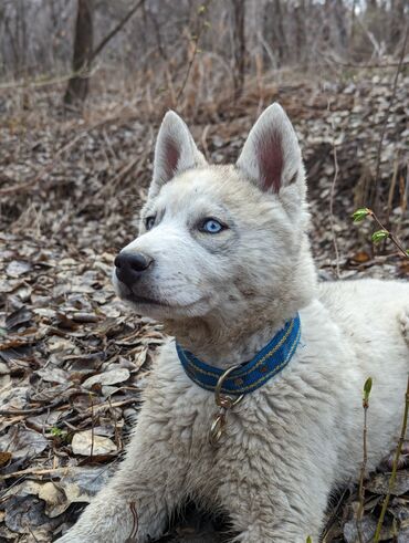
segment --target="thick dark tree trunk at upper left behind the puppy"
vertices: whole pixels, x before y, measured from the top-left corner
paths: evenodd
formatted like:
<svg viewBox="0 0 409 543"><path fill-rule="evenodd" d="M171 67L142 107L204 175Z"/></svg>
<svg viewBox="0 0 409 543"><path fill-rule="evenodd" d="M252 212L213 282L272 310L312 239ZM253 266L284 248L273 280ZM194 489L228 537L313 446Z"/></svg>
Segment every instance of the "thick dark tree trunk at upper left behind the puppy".
<svg viewBox="0 0 409 543"><path fill-rule="evenodd" d="M93 50L93 0L77 0L77 13L74 36L73 73L65 91L66 105L81 105L85 101L90 81L85 71L90 67Z"/></svg>

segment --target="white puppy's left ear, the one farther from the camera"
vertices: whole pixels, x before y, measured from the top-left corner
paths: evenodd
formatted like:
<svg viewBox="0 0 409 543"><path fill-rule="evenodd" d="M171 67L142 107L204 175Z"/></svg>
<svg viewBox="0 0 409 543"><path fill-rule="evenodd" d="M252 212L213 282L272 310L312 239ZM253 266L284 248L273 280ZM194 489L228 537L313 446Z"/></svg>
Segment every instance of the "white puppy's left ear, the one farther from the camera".
<svg viewBox="0 0 409 543"><path fill-rule="evenodd" d="M154 179L149 196L156 196L160 187L177 174L206 164L185 122L175 112L169 111L164 117L156 140Z"/></svg>

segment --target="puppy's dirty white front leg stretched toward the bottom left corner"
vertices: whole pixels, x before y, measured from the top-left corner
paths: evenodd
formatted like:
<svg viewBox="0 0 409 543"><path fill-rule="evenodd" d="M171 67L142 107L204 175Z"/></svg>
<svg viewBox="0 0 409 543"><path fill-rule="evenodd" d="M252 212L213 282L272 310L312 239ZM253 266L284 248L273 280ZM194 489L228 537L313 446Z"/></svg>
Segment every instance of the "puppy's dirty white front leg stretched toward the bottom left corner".
<svg viewBox="0 0 409 543"><path fill-rule="evenodd" d="M140 419L144 419L143 413ZM166 431L165 431L166 434ZM181 499L183 471L157 424L140 420L108 485L59 543L145 543L159 536Z"/></svg>

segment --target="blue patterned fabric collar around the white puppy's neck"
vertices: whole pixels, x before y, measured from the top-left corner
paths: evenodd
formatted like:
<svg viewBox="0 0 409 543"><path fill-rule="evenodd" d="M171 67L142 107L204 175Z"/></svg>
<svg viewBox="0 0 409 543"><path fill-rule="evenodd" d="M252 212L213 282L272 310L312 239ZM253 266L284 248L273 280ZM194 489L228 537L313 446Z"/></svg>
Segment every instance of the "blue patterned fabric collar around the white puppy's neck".
<svg viewBox="0 0 409 543"><path fill-rule="evenodd" d="M248 394L261 387L281 372L291 361L301 336L300 315L285 323L250 362L234 369L223 382L224 394ZM209 366L176 343L179 359L193 383L206 390L214 391L222 369Z"/></svg>

